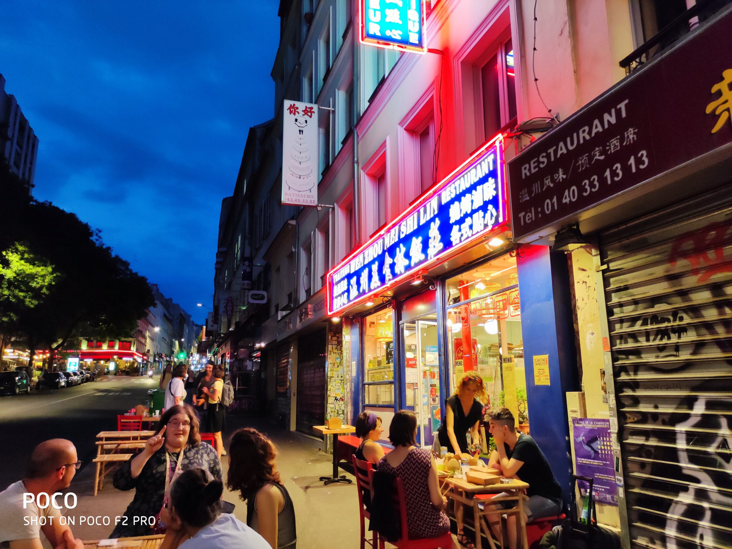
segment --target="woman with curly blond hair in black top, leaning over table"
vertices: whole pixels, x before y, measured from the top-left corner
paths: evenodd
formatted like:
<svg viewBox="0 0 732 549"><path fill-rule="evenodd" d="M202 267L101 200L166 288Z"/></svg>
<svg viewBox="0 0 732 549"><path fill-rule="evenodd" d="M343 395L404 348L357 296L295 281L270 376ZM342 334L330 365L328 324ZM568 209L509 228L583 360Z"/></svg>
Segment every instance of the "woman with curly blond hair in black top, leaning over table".
<svg viewBox="0 0 732 549"><path fill-rule="evenodd" d="M477 398L476 398L477 397ZM482 420L483 404L490 405L483 379L477 371L468 371L460 380L458 390L445 401L447 413L438 429L440 446L447 446L460 460L468 454L468 432L474 445L480 445L479 425Z"/></svg>

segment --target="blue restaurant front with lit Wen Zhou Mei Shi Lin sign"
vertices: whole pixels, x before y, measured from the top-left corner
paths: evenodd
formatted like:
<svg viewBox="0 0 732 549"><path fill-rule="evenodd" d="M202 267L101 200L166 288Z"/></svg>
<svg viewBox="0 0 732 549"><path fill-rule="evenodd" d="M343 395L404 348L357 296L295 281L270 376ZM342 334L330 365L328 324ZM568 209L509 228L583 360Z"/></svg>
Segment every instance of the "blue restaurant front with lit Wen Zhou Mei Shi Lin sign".
<svg viewBox="0 0 732 549"><path fill-rule="evenodd" d="M476 372L488 393L483 404L512 409L517 428L544 441L568 487L562 395L573 388L571 319L556 310L561 290L548 247L526 254L511 243L503 146L500 135L486 143L337 265L327 279L328 312L343 319L351 421L376 412L386 439L393 414L411 409L417 442L431 447L446 399ZM565 286L566 274L565 266ZM558 419L542 421L546 414Z"/></svg>

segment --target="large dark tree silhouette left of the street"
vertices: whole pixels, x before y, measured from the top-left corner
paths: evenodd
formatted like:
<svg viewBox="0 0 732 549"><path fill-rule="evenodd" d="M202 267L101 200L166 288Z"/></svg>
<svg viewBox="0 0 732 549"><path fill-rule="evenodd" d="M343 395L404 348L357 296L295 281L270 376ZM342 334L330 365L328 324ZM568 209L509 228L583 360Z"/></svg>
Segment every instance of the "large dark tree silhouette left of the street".
<svg viewBox="0 0 732 549"><path fill-rule="evenodd" d="M22 242L30 260L26 270L34 265L41 276L36 284L43 280L41 266L53 265L54 278L42 299L18 307L0 331L24 336L31 356L38 345L48 348L50 369L54 352L78 336L131 336L137 320L154 306L147 280L75 214L23 197L13 187L18 182L2 175L0 170L11 204L0 218L0 251L12 254Z"/></svg>

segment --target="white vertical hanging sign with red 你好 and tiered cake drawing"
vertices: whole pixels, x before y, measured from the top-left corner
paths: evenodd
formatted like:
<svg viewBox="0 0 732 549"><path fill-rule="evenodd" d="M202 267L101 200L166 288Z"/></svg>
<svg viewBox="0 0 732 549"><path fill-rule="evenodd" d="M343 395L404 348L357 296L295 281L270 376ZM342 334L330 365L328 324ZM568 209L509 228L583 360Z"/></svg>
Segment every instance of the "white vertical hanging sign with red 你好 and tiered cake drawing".
<svg viewBox="0 0 732 549"><path fill-rule="evenodd" d="M318 204L318 105L285 100L282 203Z"/></svg>

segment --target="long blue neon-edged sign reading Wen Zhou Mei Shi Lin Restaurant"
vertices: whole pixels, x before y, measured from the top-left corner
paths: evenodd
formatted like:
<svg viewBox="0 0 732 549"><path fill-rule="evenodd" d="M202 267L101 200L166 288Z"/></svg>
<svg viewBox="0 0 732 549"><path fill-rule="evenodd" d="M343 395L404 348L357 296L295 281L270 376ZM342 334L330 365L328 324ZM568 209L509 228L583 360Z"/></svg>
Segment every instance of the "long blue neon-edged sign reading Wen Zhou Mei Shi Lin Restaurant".
<svg viewBox="0 0 732 549"><path fill-rule="evenodd" d="M436 265L506 222L503 136L483 145L327 275L328 314Z"/></svg>

